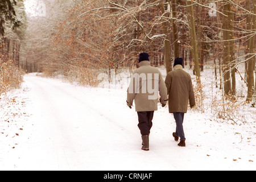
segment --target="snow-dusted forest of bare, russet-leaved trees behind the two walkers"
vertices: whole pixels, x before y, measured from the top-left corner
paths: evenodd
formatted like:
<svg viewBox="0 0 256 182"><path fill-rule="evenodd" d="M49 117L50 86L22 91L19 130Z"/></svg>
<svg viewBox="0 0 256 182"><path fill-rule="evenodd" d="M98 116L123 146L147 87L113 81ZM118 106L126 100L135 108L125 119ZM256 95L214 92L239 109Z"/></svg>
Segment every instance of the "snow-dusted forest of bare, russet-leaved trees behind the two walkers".
<svg viewBox="0 0 256 182"><path fill-rule="evenodd" d="M255 105L253 0L38 0L34 14L24 4L0 0L0 93L31 72L97 86L98 73L132 73L139 53L148 52L151 65L167 73L183 57L199 95L205 68L232 102L239 78L247 86L243 100Z"/></svg>

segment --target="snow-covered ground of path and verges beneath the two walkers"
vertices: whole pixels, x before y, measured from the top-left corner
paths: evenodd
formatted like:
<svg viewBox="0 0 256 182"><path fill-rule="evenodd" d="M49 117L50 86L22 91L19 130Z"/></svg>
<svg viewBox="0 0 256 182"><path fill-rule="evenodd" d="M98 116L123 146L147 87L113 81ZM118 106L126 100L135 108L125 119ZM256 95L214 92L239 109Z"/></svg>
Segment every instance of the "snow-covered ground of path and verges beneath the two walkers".
<svg viewBox="0 0 256 182"><path fill-rule="evenodd" d="M232 125L189 109L187 146L179 147L172 137L174 118L159 105L150 151L142 151L126 89L24 76L22 89L0 100L0 170L256 169L255 115Z"/></svg>

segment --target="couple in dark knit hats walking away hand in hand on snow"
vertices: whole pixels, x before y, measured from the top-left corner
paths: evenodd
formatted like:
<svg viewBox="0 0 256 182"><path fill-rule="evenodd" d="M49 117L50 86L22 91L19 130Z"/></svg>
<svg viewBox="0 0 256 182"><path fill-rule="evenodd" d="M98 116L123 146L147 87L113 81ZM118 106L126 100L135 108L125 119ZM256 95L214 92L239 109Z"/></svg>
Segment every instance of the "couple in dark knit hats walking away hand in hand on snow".
<svg viewBox="0 0 256 182"><path fill-rule="evenodd" d="M154 88L154 90L152 90ZM155 92L154 92L155 91ZM185 147L185 134L183 130L184 113L187 113L188 100L192 108L195 106L191 76L183 71L183 59L177 57L174 61L173 71L167 73L163 81L160 71L150 66L148 53L139 55L139 68L134 71L127 89L127 106L133 106L138 113L139 130L142 135L142 150L149 150L149 135L152 127L154 111L158 110L158 92L160 103L166 106L168 101L169 113L174 114L176 131L172 133L178 146ZM168 98L167 98L168 96Z"/></svg>

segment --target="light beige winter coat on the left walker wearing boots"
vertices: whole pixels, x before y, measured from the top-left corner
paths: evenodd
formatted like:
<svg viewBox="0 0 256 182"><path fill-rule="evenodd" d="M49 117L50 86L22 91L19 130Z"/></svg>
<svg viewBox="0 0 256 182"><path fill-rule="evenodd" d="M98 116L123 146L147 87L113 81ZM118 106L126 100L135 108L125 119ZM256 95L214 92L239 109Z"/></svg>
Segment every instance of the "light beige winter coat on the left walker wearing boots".
<svg viewBox="0 0 256 182"><path fill-rule="evenodd" d="M132 106L134 100L136 111L158 110L158 92L161 104L166 104L167 89L160 71L150 61L141 61L127 89L127 105Z"/></svg>

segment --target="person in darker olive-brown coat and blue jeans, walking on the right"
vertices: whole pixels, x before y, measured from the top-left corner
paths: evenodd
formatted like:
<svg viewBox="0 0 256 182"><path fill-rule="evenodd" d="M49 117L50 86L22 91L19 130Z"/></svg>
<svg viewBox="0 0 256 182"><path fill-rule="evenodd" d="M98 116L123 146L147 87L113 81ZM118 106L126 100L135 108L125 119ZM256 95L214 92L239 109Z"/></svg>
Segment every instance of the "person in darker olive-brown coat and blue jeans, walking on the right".
<svg viewBox="0 0 256 182"><path fill-rule="evenodd" d="M174 114L176 121L176 132L173 133L178 146L185 147L185 134L183 130L184 113L187 113L188 101L191 108L195 106L195 95L193 92L191 76L183 71L183 59L177 57L174 61L174 71L166 76L166 87L169 95L169 113Z"/></svg>

